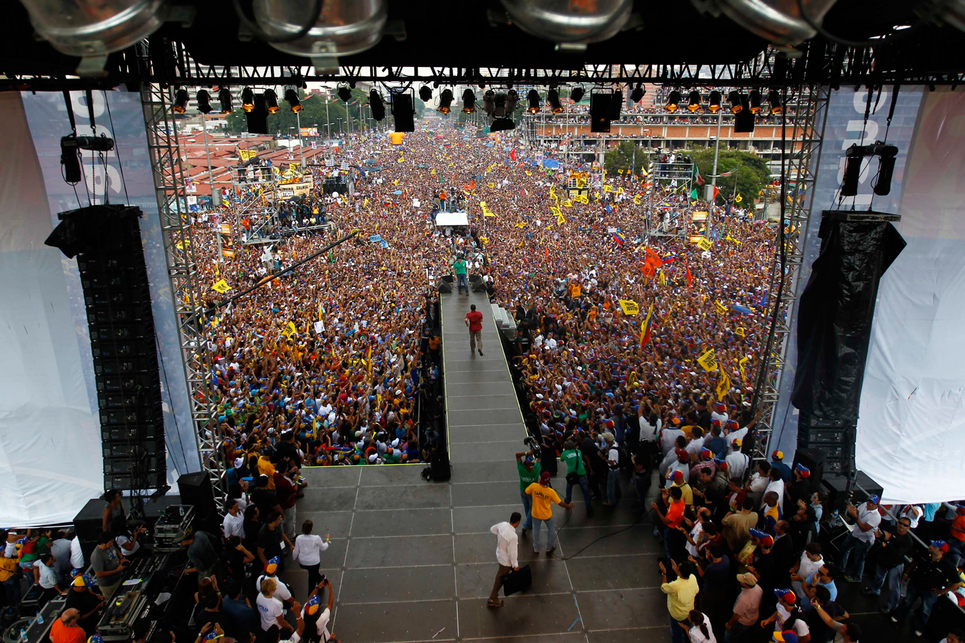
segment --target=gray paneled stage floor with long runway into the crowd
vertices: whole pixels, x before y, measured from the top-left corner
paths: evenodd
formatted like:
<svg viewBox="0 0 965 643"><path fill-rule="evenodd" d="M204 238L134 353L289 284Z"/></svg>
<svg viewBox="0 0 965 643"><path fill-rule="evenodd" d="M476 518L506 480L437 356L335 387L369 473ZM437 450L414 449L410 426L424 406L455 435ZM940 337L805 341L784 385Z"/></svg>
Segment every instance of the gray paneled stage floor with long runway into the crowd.
<svg viewBox="0 0 965 643"><path fill-rule="evenodd" d="M483 312L483 357L469 354L462 320L470 303ZM311 518L317 533L332 535L322 573L336 593L335 635L345 643L669 640L658 549L646 524L568 561L536 556L532 540L520 539L533 587L502 608L486 607L497 569L489 527L521 510L513 454L525 449L525 432L484 294L444 295L442 317L452 480L423 482L422 465L305 471L311 486L297 522ZM554 486L563 494L562 475ZM558 525L571 516L556 556L631 525L638 514L629 496L625 489L611 511L597 503L592 519L582 499L568 512L557 508ZM306 595L305 572L283 577L296 598Z"/></svg>

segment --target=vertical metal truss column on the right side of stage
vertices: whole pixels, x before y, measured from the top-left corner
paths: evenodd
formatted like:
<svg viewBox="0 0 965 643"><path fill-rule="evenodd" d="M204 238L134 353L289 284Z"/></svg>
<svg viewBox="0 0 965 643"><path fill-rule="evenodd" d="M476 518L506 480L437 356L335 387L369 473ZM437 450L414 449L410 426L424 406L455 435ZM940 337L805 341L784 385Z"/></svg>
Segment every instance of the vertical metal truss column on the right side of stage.
<svg viewBox="0 0 965 643"><path fill-rule="evenodd" d="M776 418L781 380L785 376L785 356L791 321L797 314L798 282L804 267L805 241L811 224L814 181L821 154L821 139L828 113L829 89L826 86L804 86L797 100L797 109L791 123L787 124L787 163L785 173L785 216L778 225L786 226L786 266L781 271L777 258L772 272L768 296L778 291L779 279L784 279L784 291L778 303L777 323L770 355L760 355L758 369L764 368L763 388L760 391L758 409L762 412L756 427L758 453L755 458L770 460L771 435ZM800 147L798 147L800 146ZM791 189L793 182L793 189ZM780 248L775 246L775 252ZM773 308L771 314L774 314ZM770 322L771 316L767 320ZM775 447L777 445L774 445Z"/></svg>

